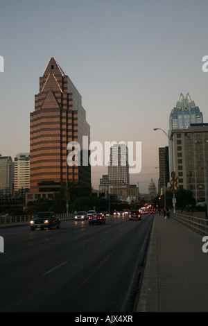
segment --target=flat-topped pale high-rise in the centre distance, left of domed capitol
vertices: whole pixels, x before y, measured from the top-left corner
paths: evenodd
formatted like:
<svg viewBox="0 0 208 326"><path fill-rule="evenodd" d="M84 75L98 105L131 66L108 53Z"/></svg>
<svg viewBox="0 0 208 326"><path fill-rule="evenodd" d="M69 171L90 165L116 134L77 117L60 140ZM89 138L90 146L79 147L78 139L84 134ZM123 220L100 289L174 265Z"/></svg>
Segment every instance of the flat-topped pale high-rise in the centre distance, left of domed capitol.
<svg viewBox="0 0 208 326"><path fill-rule="evenodd" d="M112 188L129 187L128 147L125 144L115 144L110 148L108 178L110 192Z"/></svg>

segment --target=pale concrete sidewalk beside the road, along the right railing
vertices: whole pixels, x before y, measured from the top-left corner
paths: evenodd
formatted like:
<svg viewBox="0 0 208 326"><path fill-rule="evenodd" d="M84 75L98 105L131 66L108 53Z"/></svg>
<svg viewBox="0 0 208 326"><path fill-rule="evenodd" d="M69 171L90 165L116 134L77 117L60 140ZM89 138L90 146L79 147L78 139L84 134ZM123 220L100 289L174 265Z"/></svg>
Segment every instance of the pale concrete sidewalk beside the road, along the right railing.
<svg viewBox="0 0 208 326"><path fill-rule="evenodd" d="M202 236L155 214L137 312L207 312Z"/></svg>

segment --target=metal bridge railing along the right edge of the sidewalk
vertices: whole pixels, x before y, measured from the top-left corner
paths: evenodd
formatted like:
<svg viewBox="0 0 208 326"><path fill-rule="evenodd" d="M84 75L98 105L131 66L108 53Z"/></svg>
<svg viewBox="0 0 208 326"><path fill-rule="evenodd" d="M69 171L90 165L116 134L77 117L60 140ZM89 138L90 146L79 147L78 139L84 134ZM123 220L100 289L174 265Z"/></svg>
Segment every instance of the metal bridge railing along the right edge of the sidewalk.
<svg viewBox="0 0 208 326"><path fill-rule="evenodd" d="M208 234L208 220L205 218L198 218L178 213L174 214L173 212L171 212L170 217L195 232L202 235Z"/></svg>

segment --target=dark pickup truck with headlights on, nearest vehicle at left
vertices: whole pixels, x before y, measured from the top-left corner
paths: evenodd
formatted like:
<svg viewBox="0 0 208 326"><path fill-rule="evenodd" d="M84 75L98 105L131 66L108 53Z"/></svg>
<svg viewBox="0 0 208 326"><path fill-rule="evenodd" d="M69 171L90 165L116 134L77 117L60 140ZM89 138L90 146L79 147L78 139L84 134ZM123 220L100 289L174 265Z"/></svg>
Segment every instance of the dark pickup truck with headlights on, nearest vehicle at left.
<svg viewBox="0 0 208 326"><path fill-rule="evenodd" d="M36 228L60 228L60 218L56 217L53 212L39 212L31 220L31 230Z"/></svg>

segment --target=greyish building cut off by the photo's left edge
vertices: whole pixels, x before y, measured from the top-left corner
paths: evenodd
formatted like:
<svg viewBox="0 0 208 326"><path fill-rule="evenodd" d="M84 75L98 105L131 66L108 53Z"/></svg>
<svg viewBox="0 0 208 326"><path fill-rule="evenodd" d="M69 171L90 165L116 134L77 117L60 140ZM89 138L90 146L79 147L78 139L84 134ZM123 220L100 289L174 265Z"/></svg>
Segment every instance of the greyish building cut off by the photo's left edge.
<svg viewBox="0 0 208 326"><path fill-rule="evenodd" d="M10 156L0 155L0 195L14 193L14 162Z"/></svg>

